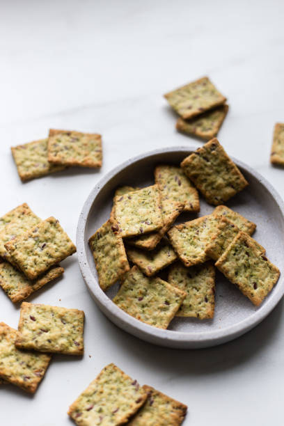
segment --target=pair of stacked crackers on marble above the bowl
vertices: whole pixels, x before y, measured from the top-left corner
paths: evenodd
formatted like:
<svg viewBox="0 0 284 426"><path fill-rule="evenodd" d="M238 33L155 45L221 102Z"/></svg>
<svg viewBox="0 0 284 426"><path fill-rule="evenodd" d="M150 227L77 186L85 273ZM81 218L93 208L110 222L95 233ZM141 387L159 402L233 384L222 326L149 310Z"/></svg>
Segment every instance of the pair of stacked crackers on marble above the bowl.
<svg viewBox="0 0 284 426"><path fill-rule="evenodd" d="M177 88L164 97L180 116L176 123L178 131L205 141L217 136L229 109L226 97L208 77Z"/></svg>

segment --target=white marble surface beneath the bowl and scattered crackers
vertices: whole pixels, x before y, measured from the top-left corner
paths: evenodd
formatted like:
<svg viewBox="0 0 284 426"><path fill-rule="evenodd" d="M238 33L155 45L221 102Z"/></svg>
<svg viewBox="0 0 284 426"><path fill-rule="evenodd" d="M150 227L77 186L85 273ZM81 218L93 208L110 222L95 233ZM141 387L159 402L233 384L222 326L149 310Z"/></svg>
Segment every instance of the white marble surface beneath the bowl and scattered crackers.
<svg viewBox="0 0 284 426"><path fill-rule="evenodd" d="M75 239L84 200L104 173L146 150L200 146L175 132L161 97L209 74L228 97L219 140L283 196L284 171L269 165L274 123L283 112L282 1L0 1L1 214L24 201L54 215ZM100 173L61 173L22 184L10 146L49 127L100 132ZM162 349L116 328L97 309L76 255L65 276L31 301L86 312L83 359L55 356L35 396L0 388L0 424L71 425L69 404L115 362L188 404L184 425L283 424L284 313L279 303L246 336L199 351ZM19 309L0 293L1 321Z"/></svg>

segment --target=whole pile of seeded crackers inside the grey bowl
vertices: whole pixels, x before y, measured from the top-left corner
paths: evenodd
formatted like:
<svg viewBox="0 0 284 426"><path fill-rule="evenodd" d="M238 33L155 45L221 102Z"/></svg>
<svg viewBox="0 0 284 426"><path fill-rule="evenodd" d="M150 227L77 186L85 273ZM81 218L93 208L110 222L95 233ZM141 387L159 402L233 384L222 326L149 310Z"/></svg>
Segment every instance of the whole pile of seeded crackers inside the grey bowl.
<svg viewBox="0 0 284 426"><path fill-rule="evenodd" d="M175 316L212 319L214 266L256 306L262 303L280 273L251 237L255 223L224 205L248 182L219 141L180 166L157 165L154 177L150 187L118 188L110 219L89 239L102 290L120 282L113 303L161 329ZM215 210L175 224L181 212L199 212L198 191ZM164 280L157 274L168 267Z"/></svg>

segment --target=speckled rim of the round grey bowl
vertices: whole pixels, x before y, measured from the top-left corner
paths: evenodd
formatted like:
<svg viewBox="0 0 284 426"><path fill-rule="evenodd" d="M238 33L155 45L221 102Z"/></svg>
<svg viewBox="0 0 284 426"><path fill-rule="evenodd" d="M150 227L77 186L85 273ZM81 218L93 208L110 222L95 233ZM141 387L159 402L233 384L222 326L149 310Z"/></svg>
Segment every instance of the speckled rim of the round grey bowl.
<svg viewBox="0 0 284 426"><path fill-rule="evenodd" d="M267 299L265 305L260 306L260 308L252 313L252 315L246 319L243 319L241 322L237 322L237 324L227 326L226 328L220 330L215 329L214 331L204 331L200 334L185 331L158 329L157 327L145 324L125 313L123 310L118 308L118 306L116 306L116 304L113 303L107 294L105 294L100 288L100 285L98 284L95 276L93 276L93 273L88 266L88 259L86 256L85 230L86 222L88 220L93 203L95 202L95 198L98 196L104 185L107 184L107 182L109 182L109 180L111 180L115 175L120 173L120 171L123 171L124 168L127 168L127 166L134 164L137 161L146 159L147 157L164 154L165 152L187 152L189 155L190 152L194 152L195 150L196 148L192 146L171 146L168 148L159 148L156 150L144 152L143 154L136 155L135 157L123 161L122 164L116 166L106 175L104 175L104 177L99 182L97 182L97 184L95 184L95 187L92 189L92 191L90 191L90 194L88 195L88 198L86 199L81 210L77 226L77 254L81 274L91 296L93 299L95 299L95 302L100 307L102 312L107 315L107 317L109 317L109 319L111 319L111 321L114 322L117 326L136 337L147 340L148 342L155 343L156 345L179 347L180 349L220 345L223 342L228 342L229 340L237 338L247 331L253 329L253 327L258 325L263 319L265 319L265 317L267 317L267 315L275 308L277 303L283 297L284 281L281 280L280 277L276 287L274 287L274 292L271 294L271 297ZM260 173L251 168L251 166L244 164L242 161L239 161L234 157L230 158L235 162L235 164L237 164L238 167L243 168L244 171L254 175L258 182L260 182L267 189L267 191L274 198L276 205L278 205L284 222L284 203L281 196L274 189L274 187L272 187L272 185L262 175L260 175Z"/></svg>

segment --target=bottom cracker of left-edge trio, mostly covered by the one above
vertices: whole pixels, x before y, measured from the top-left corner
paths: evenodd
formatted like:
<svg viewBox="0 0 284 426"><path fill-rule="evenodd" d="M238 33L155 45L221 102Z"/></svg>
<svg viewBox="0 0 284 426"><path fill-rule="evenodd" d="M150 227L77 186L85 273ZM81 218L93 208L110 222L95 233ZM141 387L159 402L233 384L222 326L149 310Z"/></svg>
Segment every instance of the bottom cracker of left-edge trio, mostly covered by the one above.
<svg viewBox="0 0 284 426"><path fill-rule="evenodd" d="M6 292L7 296L10 297L13 303L17 303L30 294L36 292L45 284L52 280L55 280L61 276L64 269L58 265L52 267L45 274L35 281L31 281L21 271L10 265L8 262L0 264L0 286Z"/></svg>

